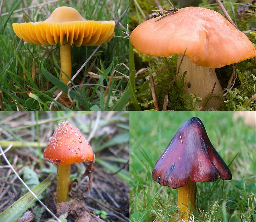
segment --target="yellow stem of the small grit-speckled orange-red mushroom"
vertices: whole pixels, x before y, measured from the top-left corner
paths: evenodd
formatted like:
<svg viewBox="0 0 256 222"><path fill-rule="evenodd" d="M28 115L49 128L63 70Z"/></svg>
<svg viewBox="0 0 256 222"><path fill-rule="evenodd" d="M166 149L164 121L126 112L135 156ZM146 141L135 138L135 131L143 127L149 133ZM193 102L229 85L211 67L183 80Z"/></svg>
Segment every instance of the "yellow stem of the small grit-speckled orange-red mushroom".
<svg viewBox="0 0 256 222"><path fill-rule="evenodd" d="M71 164L58 165L57 175L57 202L68 201Z"/></svg>

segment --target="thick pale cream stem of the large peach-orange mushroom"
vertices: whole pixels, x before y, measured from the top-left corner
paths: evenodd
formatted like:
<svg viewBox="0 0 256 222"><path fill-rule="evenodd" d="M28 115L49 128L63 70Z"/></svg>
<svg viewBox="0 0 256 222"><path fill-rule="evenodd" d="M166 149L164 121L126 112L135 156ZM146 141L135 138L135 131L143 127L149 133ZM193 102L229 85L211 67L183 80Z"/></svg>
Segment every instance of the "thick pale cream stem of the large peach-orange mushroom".
<svg viewBox="0 0 256 222"><path fill-rule="evenodd" d="M182 56L183 55L178 55L177 58L177 73ZM206 110L209 107L213 107L217 110L221 109L221 101L217 99L211 99L209 101L208 107L204 105L206 97L211 93L218 96L223 95L223 89L216 76L215 69L195 65L188 56L184 56L179 71L180 77L183 75L184 71L187 71L184 85L186 96L188 93L198 93L198 96L203 99L203 101L198 105L202 106L203 110Z"/></svg>

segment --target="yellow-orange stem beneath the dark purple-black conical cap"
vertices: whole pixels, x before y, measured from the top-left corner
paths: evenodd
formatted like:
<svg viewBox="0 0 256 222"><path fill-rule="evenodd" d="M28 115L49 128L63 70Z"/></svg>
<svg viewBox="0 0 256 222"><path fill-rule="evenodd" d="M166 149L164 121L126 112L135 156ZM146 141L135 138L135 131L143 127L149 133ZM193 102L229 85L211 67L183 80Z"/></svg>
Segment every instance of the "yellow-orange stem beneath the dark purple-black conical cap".
<svg viewBox="0 0 256 222"><path fill-rule="evenodd" d="M188 221L189 201L191 206L195 208L195 182L188 179L188 184L178 188L178 207L180 207L180 217L184 221Z"/></svg>

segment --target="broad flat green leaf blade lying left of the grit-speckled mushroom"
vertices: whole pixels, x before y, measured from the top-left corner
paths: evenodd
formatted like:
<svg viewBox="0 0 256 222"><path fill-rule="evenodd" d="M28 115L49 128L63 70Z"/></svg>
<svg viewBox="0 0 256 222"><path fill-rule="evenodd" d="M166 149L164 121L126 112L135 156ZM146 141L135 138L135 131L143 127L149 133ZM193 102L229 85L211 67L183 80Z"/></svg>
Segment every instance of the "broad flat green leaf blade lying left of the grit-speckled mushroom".
<svg viewBox="0 0 256 222"><path fill-rule="evenodd" d="M53 179L56 178L56 174L49 175L44 181L38 184L32 189L36 196L39 196L43 191L51 184ZM14 222L16 221L29 206L34 202L34 196L28 192L22 196L19 200L15 201L5 211L0 214L0 221Z"/></svg>

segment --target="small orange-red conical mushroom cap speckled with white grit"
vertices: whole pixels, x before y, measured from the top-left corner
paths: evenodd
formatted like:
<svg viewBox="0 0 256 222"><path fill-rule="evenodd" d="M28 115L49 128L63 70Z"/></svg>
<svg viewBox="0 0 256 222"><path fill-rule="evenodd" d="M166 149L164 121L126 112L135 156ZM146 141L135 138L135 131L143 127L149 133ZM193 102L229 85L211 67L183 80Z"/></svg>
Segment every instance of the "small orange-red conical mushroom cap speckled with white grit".
<svg viewBox="0 0 256 222"><path fill-rule="evenodd" d="M94 158L91 146L76 126L62 121L44 149L44 161L52 164L90 162Z"/></svg>

